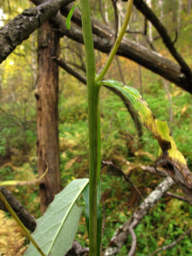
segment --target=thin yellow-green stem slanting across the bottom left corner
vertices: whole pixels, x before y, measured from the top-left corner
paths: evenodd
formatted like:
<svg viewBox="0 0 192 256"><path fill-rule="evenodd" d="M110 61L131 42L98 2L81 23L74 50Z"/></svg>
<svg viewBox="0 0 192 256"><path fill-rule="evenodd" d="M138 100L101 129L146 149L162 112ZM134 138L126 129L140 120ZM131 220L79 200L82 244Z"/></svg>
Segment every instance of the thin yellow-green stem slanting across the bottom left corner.
<svg viewBox="0 0 192 256"><path fill-rule="evenodd" d="M17 224L22 228L23 232L25 233L25 235L29 238L29 240L33 243L33 245L37 248L37 250L39 251L39 253L42 256L46 256L43 251L40 249L40 247L38 246L38 244L36 243L36 241L32 238L29 230L23 225L23 223L20 221L20 219L18 218L18 216L16 215L16 213L14 212L14 210L11 208L10 204L7 202L6 198L4 197L4 195L2 194L2 192L0 191L0 199L1 201L4 203L5 207L7 208L7 210L10 212L11 216L16 220Z"/></svg>

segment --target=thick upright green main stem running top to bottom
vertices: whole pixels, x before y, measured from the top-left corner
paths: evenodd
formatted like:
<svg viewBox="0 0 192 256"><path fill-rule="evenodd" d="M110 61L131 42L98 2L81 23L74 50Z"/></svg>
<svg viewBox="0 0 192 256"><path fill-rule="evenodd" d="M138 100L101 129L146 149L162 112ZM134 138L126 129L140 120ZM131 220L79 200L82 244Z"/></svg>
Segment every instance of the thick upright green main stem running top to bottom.
<svg viewBox="0 0 192 256"><path fill-rule="evenodd" d="M100 172L99 89L96 86L94 46L88 0L81 0L83 40L86 56L89 127L89 255L97 255L97 183Z"/></svg>

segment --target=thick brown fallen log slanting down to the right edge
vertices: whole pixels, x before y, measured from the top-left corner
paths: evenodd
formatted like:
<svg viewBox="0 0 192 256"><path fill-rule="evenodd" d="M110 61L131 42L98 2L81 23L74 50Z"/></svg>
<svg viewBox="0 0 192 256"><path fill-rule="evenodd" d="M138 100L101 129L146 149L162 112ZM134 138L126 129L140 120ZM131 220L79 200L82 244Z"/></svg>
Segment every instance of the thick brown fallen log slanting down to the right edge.
<svg viewBox="0 0 192 256"><path fill-rule="evenodd" d="M62 8L61 13L67 16L70 9L71 5L68 5L67 7ZM71 20L77 25L81 26L80 12L78 10L75 10ZM113 29L102 24L94 18L91 18L91 21L92 31L96 35L93 36L94 48L102 52L109 53L112 47L112 37L114 35ZM63 24L61 27L64 35L80 43L83 43L81 35L82 32L78 30L78 28L74 30L71 28L71 31L66 31L65 24ZM191 82L183 74L181 67L173 61L163 57L162 55L151 51L144 46L140 46L125 37L123 37L119 49L117 50L117 55L121 55L137 62L139 65L146 67L152 72L157 73L165 79L174 82L184 90L192 93Z"/></svg>

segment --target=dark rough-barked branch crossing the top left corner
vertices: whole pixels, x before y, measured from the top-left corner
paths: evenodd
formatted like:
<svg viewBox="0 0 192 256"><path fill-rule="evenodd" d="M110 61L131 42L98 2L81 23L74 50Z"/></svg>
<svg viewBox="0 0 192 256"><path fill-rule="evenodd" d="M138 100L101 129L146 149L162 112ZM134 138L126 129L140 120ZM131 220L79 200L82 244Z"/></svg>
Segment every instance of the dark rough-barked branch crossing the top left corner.
<svg viewBox="0 0 192 256"><path fill-rule="evenodd" d="M46 20L55 16L61 6L72 0L50 0L35 8L25 10L0 30L0 63L26 40Z"/></svg>

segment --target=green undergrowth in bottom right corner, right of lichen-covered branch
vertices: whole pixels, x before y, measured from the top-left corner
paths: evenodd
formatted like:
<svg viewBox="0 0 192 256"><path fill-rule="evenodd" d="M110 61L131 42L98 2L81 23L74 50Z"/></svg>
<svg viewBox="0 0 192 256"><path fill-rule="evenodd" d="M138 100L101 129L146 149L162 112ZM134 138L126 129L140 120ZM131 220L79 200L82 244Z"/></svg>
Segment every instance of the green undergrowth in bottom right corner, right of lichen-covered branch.
<svg viewBox="0 0 192 256"><path fill-rule="evenodd" d="M191 206L177 199L161 199L147 216L135 228L137 235L137 255L149 255L158 247L170 244L183 234L192 224ZM131 238L127 240L127 245ZM126 247L126 246L125 246ZM124 249L125 249L124 247ZM162 251L160 255L190 255L192 248L191 236L186 235L175 247ZM130 245L126 249L130 249Z"/></svg>

